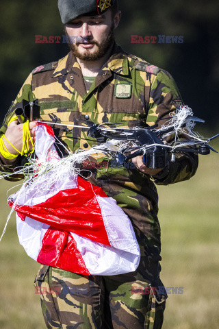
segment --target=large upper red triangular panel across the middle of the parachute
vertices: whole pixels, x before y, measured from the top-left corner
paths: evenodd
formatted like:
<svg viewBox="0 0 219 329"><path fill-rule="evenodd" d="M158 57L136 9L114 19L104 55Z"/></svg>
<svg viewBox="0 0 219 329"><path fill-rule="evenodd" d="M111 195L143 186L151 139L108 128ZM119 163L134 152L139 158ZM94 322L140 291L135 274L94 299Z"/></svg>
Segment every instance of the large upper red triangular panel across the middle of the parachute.
<svg viewBox="0 0 219 329"><path fill-rule="evenodd" d="M78 176L77 188L60 191L36 206L16 205L20 214L59 230L74 232L92 241L110 245L96 195L107 197L103 190ZM12 203L9 204L12 207Z"/></svg>

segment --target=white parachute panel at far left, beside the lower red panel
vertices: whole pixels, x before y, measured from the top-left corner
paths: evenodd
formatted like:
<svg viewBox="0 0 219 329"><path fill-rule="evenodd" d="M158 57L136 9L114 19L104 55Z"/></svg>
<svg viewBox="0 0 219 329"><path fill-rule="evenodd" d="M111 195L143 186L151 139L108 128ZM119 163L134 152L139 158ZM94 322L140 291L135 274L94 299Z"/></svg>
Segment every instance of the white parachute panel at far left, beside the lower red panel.
<svg viewBox="0 0 219 329"><path fill-rule="evenodd" d="M35 221L29 217L22 221L16 214L16 229L18 239L23 245L27 255L37 261L38 254L42 248L42 239L47 232L49 225Z"/></svg>

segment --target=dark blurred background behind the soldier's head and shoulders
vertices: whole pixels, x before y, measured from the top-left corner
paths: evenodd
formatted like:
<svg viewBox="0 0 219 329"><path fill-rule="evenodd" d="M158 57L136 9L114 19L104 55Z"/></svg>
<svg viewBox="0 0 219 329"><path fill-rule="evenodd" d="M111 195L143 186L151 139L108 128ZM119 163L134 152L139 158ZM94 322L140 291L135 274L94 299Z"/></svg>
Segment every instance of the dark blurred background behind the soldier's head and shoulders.
<svg viewBox="0 0 219 329"><path fill-rule="evenodd" d="M218 125L219 1L119 0L122 19L116 41L126 51L169 71L183 100ZM66 55L63 43L35 43L35 36L62 36L54 0L1 0L1 121L29 72ZM131 43L131 35L183 36L183 43ZM209 115L211 113L211 115Z"/></svg>

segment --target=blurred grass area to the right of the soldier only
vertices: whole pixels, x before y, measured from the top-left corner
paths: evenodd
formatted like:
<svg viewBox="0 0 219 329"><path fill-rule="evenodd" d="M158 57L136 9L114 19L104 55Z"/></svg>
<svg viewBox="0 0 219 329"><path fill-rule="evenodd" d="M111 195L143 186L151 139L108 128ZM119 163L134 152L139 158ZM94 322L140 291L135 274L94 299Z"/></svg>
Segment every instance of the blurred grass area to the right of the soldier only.
<svg viewBox="0 0 219 329"><path fill-rule="evenodd" d="M200 156L194 178L159 186L162 280L169 295L164 329L219 328L218 154Z"/></svg>

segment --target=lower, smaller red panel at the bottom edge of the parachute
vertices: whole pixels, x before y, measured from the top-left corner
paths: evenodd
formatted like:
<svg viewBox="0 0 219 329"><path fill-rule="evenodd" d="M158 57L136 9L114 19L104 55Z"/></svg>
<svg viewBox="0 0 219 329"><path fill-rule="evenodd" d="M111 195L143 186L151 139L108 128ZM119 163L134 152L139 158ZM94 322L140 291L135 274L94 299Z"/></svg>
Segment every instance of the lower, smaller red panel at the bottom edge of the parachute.
<svg viewBox="0 0 219 329"><path fill-rule="evenodd" d="M83 276L90 276L73 236L50 227L42 239L42 248L37 258L38 263L57 267Z"/></svg>

